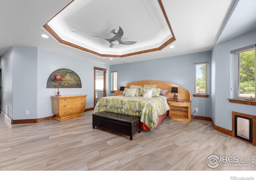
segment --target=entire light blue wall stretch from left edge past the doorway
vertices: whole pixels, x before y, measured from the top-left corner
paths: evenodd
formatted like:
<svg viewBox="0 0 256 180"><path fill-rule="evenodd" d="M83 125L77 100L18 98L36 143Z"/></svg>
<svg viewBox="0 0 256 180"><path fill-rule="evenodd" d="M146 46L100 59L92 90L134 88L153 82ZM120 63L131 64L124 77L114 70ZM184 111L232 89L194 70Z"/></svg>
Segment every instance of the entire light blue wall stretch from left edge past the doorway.
<svg viewBox="0 0 256 180"><path fill-rule="evenodd" d="M109 65L40 48L13 46L2 58L2 110L5 113L8 105L8 115L13 120L53 115L51 96L57 89L46 88L46 83L57 69L68 68L80 76L82 88L60 88L60 94L87 94L86 108L94 106L94 66L106 68L107 84L109 80ZM26 110L29 115L25 115Z"/></svg>

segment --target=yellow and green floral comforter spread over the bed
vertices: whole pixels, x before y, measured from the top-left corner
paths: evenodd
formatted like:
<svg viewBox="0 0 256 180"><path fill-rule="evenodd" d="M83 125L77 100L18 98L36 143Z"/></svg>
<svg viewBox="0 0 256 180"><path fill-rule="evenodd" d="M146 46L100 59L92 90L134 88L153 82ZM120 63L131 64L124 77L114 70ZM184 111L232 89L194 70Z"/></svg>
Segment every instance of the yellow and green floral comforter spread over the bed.
<svg viewBox="0 0 256 180"><path fill-rule="evenodd" d="M93 113L108 111L140 116L140 122L154 131L158 122L158 115L164 114L167 110L169 107L163 96L156 98L108 96L100 98Z"/></svg>

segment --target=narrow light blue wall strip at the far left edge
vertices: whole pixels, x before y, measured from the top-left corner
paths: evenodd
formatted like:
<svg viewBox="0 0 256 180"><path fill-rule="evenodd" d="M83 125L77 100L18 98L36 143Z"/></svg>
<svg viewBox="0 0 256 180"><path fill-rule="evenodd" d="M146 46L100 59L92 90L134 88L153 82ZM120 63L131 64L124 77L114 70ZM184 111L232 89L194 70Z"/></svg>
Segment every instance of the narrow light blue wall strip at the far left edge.
<svg viewBox="0 0 256 180"><path fill-rule="evenodd" d="M13 65L13 47L11 47L2 57L3 62L0 64L2 68L2 89L1 89L1 110L4 114L8 114L12 119L12 65ZM6 112L8 106L8 113Z"/></svg>

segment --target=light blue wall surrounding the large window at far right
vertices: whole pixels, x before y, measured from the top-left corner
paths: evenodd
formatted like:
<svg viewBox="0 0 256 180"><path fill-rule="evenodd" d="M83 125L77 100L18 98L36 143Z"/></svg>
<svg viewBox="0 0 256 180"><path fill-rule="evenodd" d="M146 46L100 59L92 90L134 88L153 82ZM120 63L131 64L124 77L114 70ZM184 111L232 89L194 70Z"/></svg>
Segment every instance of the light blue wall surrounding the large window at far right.
<svg viewBox="0 0 256 180"><path fill-rule="evenodd" d="M232 111L256 115L256 106L230 103L231 50L256 44L256 31L215 45L216 54L216 109L215 124L232 130Z"/></svg>

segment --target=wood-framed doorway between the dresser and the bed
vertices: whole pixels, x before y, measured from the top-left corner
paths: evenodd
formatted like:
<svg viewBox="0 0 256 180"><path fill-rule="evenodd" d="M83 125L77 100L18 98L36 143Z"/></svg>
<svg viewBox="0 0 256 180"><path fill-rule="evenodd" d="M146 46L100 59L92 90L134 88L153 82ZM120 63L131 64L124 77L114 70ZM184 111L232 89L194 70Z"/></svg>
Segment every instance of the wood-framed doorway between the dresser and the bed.
<svg viewBox="0 0 256 180"><path fill-rule="evenodd" d="M106 97L106 72L104 68L94 67L94 107L100 98Z"/></svg>

